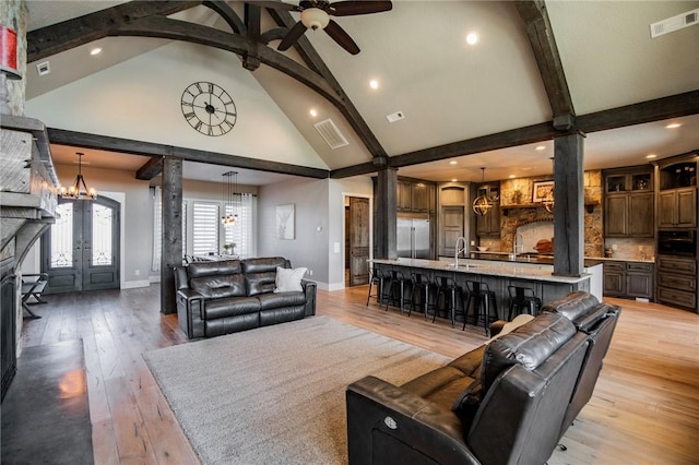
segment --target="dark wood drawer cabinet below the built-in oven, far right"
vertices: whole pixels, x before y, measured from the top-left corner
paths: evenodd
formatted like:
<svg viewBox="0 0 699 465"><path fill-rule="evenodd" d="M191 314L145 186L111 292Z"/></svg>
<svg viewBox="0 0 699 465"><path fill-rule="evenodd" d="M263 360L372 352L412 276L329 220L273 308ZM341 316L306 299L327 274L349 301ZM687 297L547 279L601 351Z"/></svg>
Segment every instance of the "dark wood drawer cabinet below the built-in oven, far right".
<svg viewBox="0 0 699 465"><path fill-rule="evenodd" d="M657 301L691 311L697 308L697 259L657 257Z"/></svg>

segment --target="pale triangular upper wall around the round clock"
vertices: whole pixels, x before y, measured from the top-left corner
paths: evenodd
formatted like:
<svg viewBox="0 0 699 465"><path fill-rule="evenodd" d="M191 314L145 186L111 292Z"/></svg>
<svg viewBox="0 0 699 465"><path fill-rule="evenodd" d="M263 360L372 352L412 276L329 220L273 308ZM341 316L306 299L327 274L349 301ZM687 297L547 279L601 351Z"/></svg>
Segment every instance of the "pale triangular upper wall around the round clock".
<svg viewBox="0 0 699 465"><path fill-rule="evenodd" d="M227 134L200 134L182 116L182 92L198 81L233 97ZM328 168L235 53L193 44L175 41L32 98L25 115L50 128Z"/></svg>

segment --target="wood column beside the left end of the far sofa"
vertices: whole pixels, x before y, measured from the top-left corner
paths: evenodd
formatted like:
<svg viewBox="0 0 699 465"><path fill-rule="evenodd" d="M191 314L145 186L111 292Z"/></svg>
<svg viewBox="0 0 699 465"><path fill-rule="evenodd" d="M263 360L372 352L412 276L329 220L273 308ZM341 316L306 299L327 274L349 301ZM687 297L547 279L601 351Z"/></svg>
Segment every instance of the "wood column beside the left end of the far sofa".
<svg viewBox="0 0 699 465"><path fill-rule="evenodd" d="M182 264L182 159L163 158L163 250L161 253L161 312L175 313L175 274Z"/></svg>

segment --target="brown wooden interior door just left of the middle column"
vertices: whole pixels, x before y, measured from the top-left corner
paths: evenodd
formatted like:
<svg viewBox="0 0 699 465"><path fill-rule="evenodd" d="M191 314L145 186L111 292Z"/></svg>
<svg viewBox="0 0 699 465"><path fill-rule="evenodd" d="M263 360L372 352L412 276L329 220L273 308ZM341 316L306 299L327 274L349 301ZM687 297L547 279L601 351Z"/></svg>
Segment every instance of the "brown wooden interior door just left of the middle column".
<svg viewBox="0 0 699 465"><path fill-rule="evenodd" d="M350 286L369 282L369 199L350 198Z"/></svg>

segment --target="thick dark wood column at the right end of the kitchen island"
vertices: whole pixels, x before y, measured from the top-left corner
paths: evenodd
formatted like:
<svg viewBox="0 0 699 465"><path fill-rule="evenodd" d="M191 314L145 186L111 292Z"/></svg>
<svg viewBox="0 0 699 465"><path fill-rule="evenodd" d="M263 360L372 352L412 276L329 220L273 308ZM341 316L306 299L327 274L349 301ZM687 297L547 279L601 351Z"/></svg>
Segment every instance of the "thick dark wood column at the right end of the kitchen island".
<svg viewBox="0 0 699 465"><path fill-rule="evenodd" d="M554 274L580 276L584 266L582 133L554 140Z"/></svg>

